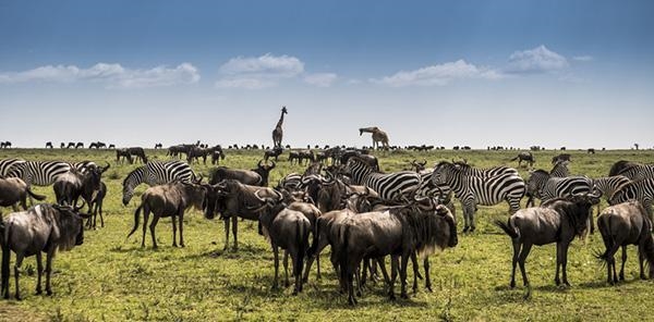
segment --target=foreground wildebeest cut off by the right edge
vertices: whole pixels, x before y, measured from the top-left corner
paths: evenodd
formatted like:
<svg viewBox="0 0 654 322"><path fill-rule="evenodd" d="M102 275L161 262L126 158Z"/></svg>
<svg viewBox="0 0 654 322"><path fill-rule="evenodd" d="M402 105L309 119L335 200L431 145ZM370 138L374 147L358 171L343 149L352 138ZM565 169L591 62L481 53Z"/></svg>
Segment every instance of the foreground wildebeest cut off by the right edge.
<svg viewBox="0 0 654 322"><path fill-rule="evenodd" d="M618 282L614 255L620 247L622 247L622 265L620 267L619 276L620 281L625 281L628 245L638 246L640 277L645 278L643 272L644 260L650 265L650 278L654 277L654 239L650 233L652 222L647 220L645 209L639 201L632 200L604 209L597 218L597 228L606 247L606 251L597 257L607 263L606 281L609 284Z"/></svg>

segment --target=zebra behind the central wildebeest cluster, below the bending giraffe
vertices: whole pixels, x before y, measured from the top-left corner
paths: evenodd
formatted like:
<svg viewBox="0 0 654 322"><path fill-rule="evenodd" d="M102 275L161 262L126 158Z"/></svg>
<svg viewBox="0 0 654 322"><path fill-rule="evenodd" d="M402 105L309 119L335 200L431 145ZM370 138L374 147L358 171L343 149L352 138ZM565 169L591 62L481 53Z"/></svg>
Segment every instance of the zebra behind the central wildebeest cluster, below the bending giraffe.
<svg viewBox="0 0 654 322"><path fill-rule="evenodd" d="M378 173L359 157L351 157L348 160L346 172L350 174L352 184L363 185L377 191L383 200L397 201L412 196L421 183L421 177L415 172Z"/></svg>

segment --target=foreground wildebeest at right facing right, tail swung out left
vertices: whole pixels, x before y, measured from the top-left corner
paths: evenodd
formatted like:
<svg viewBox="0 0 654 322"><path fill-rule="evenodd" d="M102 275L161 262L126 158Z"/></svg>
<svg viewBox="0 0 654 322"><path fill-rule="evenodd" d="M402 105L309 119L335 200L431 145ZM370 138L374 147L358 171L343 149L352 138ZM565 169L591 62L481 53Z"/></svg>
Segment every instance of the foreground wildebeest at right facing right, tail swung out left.
<svg viewBox="0 0 654 322"><path fill-rule="evenodd" d="M526 296L531 295L531 286L526 278L524 262L533 245L542 246L556 243L556 277L555 283L561 283L559 268L562 270L562 282L568 283L568 247L574 236L582 236L588 228L591 207L600 202L597 196L578 195L552 199L541 207L521 209L513 213L507 223L496 221L513 244L511 268L511 287L516 287L516 264L520 264L522 282L528 287Z"/></svg>

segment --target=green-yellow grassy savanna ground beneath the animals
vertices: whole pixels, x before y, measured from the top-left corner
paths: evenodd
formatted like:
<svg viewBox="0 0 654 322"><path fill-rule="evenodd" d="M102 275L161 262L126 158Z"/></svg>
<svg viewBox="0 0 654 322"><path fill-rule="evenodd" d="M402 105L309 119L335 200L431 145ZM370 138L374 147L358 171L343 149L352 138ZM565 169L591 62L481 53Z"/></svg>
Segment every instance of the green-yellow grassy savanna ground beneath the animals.
<svg viewBox="0 0 654 322"><path fill-rule="evenodd" d="M155 159L167 159L164 151L147 151ZM550 158L559 151L535 152L536 168L550 169ZM570 151L568 151L570 152ZM261 151L227 151L222 164L251 169ZM516 151L433 151L377 153L384 171L407 168L408 161L465 158L475 166L508 164ZM571 151L572 174L605 176L620 159L651 162L652 151ZM284 153L288 156L288 153ZM286 160L284 156L281 158ZM149 232L146 247L141 248L141 228L126 239L134 224L134 210L145 186L128 207L121 203L121 183L136 165L118 165L113 151L96 150L1 150L0 158L27 160L109 161L111 169L104 179L109 188L105 201L106 226L87 231L85 243L55 260L51 297L34 295L35 259L23 264L21 288L24 299L0 300L2 321L222 321L222 320L455 320L455 321L641 321L652 317L654 283L638 278L637 256L629 250L627 282L618 286L605 283L605 270L594 257L603 249L598 234L586 242L576 240L569 255L569 288L554 285L555 247L534 247L526 269L534 287L524 299L524 288L508 287L511 246L509 237L492 222L506 220L508 205L480 207L477 231L460 234L459 245L432 257L434 292L427 293L421 281L410 299L389 301L380 284L364 294L356 307L350 307L337 290L337 280L323 253L322 281L315 268L304 292L291 296L291 288L272 290L272 252L251 222L239 223L238 251L222 251L223 224L206 220L198 211L184 218L185 248L171 247L170 219L157 226L159 249L153 250ZM209 165L194 165L207 177ZM271 185L284 174L300 172L300 166L278 162ZM526 169L520 169L526 177ZM51 187L37 187L53 200ZM525 199L523 199L523 205ZM606 202L603 201L603 207ZM462 219L457 203L459 225ZM3 209L4 214L10 209ZM461 227L459 227L459 231ZM231 237L231 236L230 236ZM231 243L231 242L230 242ZM15 257L12 256L12 260ZM409 273L409 281L412 274ZM14 292L13 276L11 289ZM399 292L399 283L396 284ZM651 318L650 318L651 319Z"/></svg>

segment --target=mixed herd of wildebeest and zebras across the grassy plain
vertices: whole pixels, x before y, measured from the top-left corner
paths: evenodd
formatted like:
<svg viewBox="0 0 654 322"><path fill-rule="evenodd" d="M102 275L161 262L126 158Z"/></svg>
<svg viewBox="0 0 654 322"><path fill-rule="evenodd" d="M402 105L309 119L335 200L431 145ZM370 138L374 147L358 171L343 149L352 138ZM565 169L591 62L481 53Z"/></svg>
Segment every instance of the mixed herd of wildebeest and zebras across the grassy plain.
<svg viewBox="0 0 654 322"><path fill-rule="evenodd" d="M283 119L283 113L282 113ZM376 128L376 127L375 127ZM373 129L374 131L374 129ZM378 131L378 129L377 129ZM362 131L362 133L365 131ZM275 135L275 133L274 133ZM93 147L101 143L93 143ZM51 147L51 144L49 145ZM63 144L62 144L63 147ZM160 146L159 146L160 147ZM215 166L208 181L190 166L209 157L213 163L225 159L220 146L179 145L168 149L169 161L148 160L142 148L117 149L117 166L124 161L141 162L123 179L124 205L130 202L136 186L149 185L141 196L134 213L134 226L142 224L142 246L146 245L149 226L153 247L157 247L155 227L160 218L172 220L172 245L185 245L184 211L195 207L207 219L217 214L225 222L225 249L230 231L233 250L238 249L239 218L258 222L258 232L271 244L275 258L274 287L278 287L279 248L283 249L284 283L289 285L288 257L292 261L293 294L302 292L314 261L329 246L330 261L339 278L339 289L350 304L361 296L366 280L383 276L388 296L395 298L393 285L400 276L401 296L407 297L409 261L414 272L413 290L417 287L419 261L422 259L425 287L431 290L428 256L456 247L458 242L455 198L461 203L462 233L475 230L479 206L509 205L508 220L495 224L512 242L510 286L514 287L516 269L520 268L523 284L530 283L525 259L536 245L556 243L557 285L568 283L567 255L577 236L593 232L592 208L605 198L610 205L596 219L606 250L597 258L606 262L608 283L625 278L626 247L637 245L640 277L654 277L654 239L652 237L652 196L654 165L618 161L607 176L591 178L570 175L570 154L559 154L552 170L530 171L523 179L509 166L479 169L465 160L441 161L427 168L426 161L412 161L412 170L383 173L378 159L366 149L335 147L319 153L293 150L288 160L306 164L303 173L286 174L275 187L268 175L284 152L281 145L264 151L252 170ZM186 161L181 161L182 154ZM513 160L533 165L530 152L520 152ZM84 223L96 228L107 187L101 177L109 164L93 161L29 161L19 158L0 160L0 206L13 207L0 223L2 246L1 292L10 296L10 253L16 256L13 265L15 297L23 259L37 260L37 294L41 293L41 275L46 273L46 293L52 294L50 274L57 249L69 250L84 242ZM27 207L27 199L44 200L31 186L52 185L56 202ZM528 207L521 200L528 197ZM534 206L534 199L541 205ZM17 206L23 208L19 211ZM87 206L88 211L82 209ZM152 221L150 221L152 215ZM177 224L175 224L177 223ZM230 228L231 226L231 228ZM178 238L179 228L179 238ZM310 238L311 237L311 238ZM179 240L179 244L178 244ZM622 247L622 265L616 272L614 255ZM41 256L46 255L44 267ZM390 275L386 257L390 256ZM645 270L647 263L649 272ZM559 272L561 276L559 277ZM647 274L649 275L647 275Z"/></svg>

